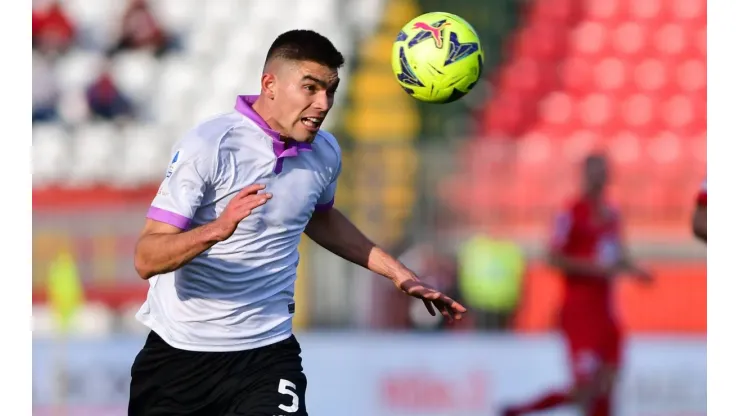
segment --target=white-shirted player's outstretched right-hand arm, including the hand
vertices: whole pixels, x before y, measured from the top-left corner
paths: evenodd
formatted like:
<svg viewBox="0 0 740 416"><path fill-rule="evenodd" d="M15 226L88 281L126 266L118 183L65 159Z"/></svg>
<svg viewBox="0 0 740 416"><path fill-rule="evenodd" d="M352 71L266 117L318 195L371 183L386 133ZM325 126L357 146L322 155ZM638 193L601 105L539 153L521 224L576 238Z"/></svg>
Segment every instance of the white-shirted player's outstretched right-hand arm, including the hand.
<svg viewBox="0 0 740 416"><path fill-rule="evenodd" d="M434 305L448 319L460 319L466 311L461 304L421 281L413 271L370 241L333 207L335 191L336 178L319 198L306 226L306 235L337 256L385 276L402 292L422 299L430 314L435 315Z"/></svg>

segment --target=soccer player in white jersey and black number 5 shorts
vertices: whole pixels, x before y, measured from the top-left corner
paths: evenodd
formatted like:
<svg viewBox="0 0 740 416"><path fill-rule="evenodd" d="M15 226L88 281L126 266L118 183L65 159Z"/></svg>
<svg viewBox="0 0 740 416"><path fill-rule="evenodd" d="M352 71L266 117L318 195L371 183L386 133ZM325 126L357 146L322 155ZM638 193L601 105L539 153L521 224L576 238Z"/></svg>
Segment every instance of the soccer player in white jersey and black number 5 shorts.
<svg viewBox="0 0 740 416"><path fill-rule="evenodd" d="M131 368L129 415L307 414L291 325L304 232L431 314L465 312L332 207L341 152L320 128L343 63L320 34L283 33L259 96L239 96L174 147L136 245L150 284L137 318L151 332Z"/></svg>

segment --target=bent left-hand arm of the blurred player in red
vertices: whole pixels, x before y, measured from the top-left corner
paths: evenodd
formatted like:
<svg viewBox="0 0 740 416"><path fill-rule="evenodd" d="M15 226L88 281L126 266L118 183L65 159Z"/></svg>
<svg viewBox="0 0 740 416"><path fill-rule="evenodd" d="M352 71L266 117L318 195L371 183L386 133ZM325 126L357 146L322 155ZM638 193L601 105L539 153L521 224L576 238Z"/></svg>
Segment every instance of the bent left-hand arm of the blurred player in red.
<svg viewBox="0 0 740 416"><path fill-rule="evenodd" d="M548 250L550 265L566 276L595 278L610 275L611 272L598 263L569 254L568 249L573 242L574 220L571 210L561 212L555 217Z"/></svg>

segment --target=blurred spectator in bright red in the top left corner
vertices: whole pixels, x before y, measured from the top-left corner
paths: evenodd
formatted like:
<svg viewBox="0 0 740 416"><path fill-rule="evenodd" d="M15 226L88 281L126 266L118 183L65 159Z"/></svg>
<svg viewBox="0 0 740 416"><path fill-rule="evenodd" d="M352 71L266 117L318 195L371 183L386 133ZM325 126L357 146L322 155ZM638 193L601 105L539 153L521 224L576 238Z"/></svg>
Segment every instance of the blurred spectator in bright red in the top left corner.
<svg viewBox="0 0 740 416"><path fill-rule="evenodd" d="M31 19L33 49L49 55L64 53L72 46L76 29L58 1L34 7Z"/></svg>

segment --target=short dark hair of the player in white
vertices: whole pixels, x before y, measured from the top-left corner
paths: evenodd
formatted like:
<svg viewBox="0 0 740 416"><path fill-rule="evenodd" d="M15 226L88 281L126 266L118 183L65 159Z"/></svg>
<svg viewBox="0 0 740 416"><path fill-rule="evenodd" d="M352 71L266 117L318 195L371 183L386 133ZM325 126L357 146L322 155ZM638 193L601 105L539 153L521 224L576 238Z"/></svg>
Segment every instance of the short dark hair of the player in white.
<svg viewBox="0 0 740 416"><path fill-rule="evenodd" d="M291 30L278 36L267 51L266 62L276 58L311 61L333 69L344 65L342 53L329 39L313 30Z"/></svg>

